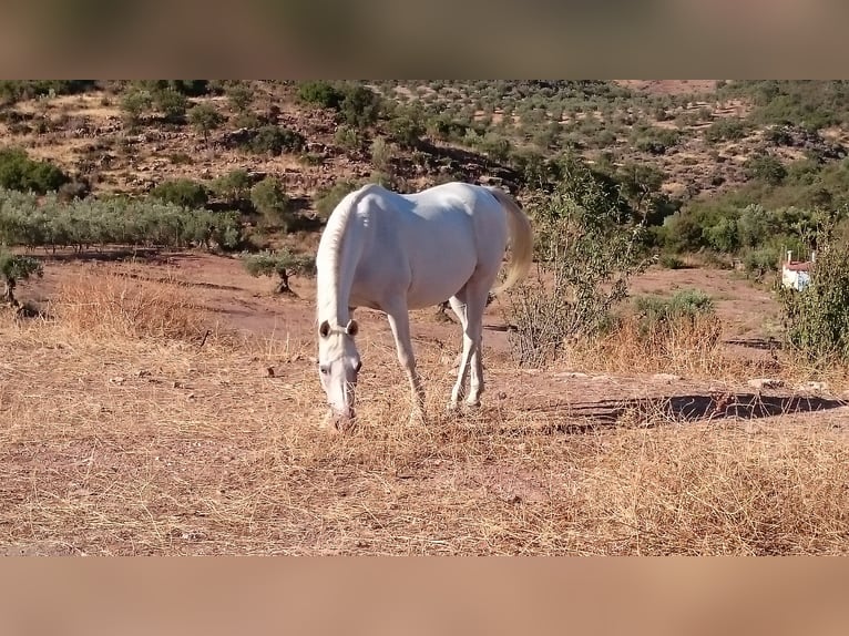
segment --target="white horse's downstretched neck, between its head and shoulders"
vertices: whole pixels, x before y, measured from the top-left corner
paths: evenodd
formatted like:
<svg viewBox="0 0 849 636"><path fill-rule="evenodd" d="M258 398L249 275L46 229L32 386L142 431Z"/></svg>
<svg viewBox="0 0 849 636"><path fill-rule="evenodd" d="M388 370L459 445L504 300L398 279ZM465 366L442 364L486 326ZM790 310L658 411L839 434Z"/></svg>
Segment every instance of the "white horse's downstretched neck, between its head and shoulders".
<svg viewBox="0 0 849 636"><path fill-rule="evenodd" d="M329 320L331 325L345 327L350 319L350 293L361 253L362 227L357 223L354 209L346 211L346 214L334 220L328 249L330 261L319 270L316 280L318 320Z"/></svg>

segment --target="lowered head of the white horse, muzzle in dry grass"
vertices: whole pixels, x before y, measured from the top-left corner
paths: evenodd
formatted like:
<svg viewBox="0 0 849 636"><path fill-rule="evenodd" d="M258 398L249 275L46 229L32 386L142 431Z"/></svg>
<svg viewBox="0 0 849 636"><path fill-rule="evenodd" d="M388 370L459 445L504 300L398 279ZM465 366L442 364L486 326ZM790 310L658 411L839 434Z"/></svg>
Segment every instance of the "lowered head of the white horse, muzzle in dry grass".
<svg viewBox="0 0 849 636"><path fill-rule="evenodd" d="M362 366L354 342L358 326L349 320L345 328L324 320L318 326L318 377L330 404L334 424L341 429L354 420L354 390Z"/></svg>

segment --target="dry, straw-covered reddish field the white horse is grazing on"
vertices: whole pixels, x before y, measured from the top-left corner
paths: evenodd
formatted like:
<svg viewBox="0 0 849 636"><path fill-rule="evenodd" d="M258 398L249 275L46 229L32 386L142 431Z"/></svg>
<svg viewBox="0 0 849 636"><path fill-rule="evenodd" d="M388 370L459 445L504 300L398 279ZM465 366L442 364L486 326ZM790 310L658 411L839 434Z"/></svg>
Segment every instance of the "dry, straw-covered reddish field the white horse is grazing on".
<svg viewBox="0 0 849 636"><path fill-rule="evenodd" d="M636 289L676 286L717 298L726 340L768 335L774 301L729 273ZM333 434L310 281L293 287L198 254L48 263L19 294L45 316L0 317L0 553L849 552L842 382L757 391L776 371L741 345L520 370L495 302L484 408L462 417L442 414L458 327L416 312L434 413L417 427L389 328L361 311L361 422Z"/></svg>

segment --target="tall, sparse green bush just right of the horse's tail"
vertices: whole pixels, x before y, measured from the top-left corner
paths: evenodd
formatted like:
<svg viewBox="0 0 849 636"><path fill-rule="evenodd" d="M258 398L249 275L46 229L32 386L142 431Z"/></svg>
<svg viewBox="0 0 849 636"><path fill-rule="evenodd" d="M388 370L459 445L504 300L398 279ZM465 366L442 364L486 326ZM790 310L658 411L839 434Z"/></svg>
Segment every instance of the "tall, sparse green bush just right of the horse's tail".
<svg viewBox="0 0 849 636"><path fill-rule="evenodd" d="M562 175L529 206L540 277L508 293L510 343L523 366L544 366L573 338L600 334L628 277L647 266L638 255L643 227L623 214L618 194L580 158L567 160Z"/></svg>

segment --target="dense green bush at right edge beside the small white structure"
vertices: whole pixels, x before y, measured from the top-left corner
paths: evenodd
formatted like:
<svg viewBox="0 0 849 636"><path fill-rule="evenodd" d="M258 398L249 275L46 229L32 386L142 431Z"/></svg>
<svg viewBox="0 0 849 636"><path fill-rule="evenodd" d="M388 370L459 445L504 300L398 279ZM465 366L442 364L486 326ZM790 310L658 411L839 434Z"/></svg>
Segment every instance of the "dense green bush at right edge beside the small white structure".
<svg viewBox="0 0 849 636"><path fill-rule="evenodd" d="M810 284L779 287L788 349L815 367L849 362L849 246L820 242Z"/></svg>

